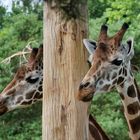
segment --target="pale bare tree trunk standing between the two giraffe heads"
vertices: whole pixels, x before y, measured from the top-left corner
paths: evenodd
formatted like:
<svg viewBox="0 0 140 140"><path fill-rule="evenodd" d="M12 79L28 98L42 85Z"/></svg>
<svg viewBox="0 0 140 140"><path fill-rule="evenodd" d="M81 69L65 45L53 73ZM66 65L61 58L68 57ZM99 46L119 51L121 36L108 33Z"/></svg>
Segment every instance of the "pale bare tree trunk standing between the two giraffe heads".
<svg viewBox="0 0 140 140"><path fill-rule="evenodd" d="M76 99L88 70L82 43L87 35L86 0L75 7L82 13L79 19L78 13L67 13L70 6L55 0L44 3L43 140L88 139L87 105Z"/></svg>

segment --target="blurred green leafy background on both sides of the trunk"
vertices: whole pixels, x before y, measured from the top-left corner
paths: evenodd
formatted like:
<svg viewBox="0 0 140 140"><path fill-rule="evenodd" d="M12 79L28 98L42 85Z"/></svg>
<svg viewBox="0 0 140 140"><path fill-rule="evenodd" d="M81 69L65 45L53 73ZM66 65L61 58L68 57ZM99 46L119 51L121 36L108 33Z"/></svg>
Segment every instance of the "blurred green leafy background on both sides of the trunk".
<svg viewBox="0 0 140 140"><path fill-rule="evenodd" d="M22 4L21 4L22 3ZM32 0L12 1L11 9L0 3L0 62L21 51L28 42L38 46L43 39L43 2ZM140 66L140 1L139 0L88 0L89 38L97 39L100 26L108 18L109 35L113 35L123 22L131 22L124 40L133 37L135 57L132 62ZM19 59L9 64L0 63L0 91L12 79ZM135 74L140 84L140 73ZM0 117L0 140L41 140L42 104L17 109ZM112 140L129 140L128 128L117 92L94 97L90 112Z"/></svg>

